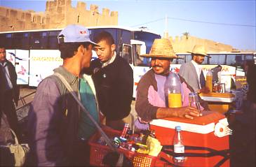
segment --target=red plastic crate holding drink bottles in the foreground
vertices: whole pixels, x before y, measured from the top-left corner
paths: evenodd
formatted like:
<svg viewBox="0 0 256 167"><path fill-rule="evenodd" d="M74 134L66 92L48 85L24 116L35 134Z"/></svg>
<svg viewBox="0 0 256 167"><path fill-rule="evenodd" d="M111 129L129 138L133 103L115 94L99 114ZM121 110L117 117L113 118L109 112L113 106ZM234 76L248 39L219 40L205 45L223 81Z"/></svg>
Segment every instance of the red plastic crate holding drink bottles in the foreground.
<svg viewBox="0 0 256 167"><path fill-rule="evenodd" d="M120 136L121 131L116 131L114 129L103 129L109 138L114 138L114 136ZM97 140L100 138L100 133L95 133L89 140L90 145L90 165L93 166L105 166L102 164L102 159L108 152L112 150L107 145L100 145ZM137 152L131 152L129 150L119 148L118 151L123 153L128 159L133 161L133 166L135 167L151 167L155 166L157 157L150 156L148 154L141 154Z"/></svg>

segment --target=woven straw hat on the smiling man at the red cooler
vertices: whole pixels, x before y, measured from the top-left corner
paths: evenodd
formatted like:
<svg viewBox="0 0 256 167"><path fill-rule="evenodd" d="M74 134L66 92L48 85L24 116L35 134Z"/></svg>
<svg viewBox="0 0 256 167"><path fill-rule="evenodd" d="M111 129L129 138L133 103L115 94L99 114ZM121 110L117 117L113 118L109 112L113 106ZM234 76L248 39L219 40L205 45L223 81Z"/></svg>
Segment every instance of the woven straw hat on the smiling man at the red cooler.
<svg viewBox="0 0 256 167"><path fill-rule="evenodd" d="M162 57L168 59L178 58L175 55L172 44L166 38L157 38L151 47L149 54L140 55L141 57Z"/></svg>

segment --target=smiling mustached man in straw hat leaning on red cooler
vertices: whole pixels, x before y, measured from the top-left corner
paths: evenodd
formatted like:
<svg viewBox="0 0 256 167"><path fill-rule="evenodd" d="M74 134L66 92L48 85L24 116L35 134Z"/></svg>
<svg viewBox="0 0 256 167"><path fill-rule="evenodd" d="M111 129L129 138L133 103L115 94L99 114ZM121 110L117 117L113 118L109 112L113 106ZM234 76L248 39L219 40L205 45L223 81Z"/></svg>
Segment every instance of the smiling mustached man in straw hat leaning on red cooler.
<svg viewBox="0 0 256 167"><path fill-rule="evenodd" d="M184 80L182 82L183 103L181 108L168 108L163 87L170 73L170 64L177 58L168 39L155 39L150 53L141 55L151 57L151 70L145 73L137 85L135 110L140 122L150 122L152 119L164 117L185 117L193 119L199 117L196 108L189 107L188 94L191 89ZM187 94L187 98L186 95ZM135 122L136 124L136 122ZM140 128L140 127L138 127Z"/></svg>

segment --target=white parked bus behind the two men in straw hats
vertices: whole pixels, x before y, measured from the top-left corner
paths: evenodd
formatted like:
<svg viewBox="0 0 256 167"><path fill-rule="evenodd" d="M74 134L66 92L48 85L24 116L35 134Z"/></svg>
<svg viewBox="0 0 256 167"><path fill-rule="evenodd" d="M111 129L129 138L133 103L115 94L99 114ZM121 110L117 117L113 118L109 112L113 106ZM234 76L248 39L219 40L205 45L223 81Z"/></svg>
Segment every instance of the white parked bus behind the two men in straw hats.
<svg viewBox="0 0 256 167"><path fill-rule="evenodd" d="M176 53L176 55L179 59L173 59L170 70L178 73L182 64L191 61L191 54ZM211 68L220 64L222 66L221 82L225 83L228 92L231 90L232 86L235 85L236 76L245 76L245 72L242 69L243 62L248 59L254 59L256 61L256 52L210 52L208 55L210 55L211 58L205 57L203 63L200 65L203 74L206 76L206 73ZM144 62L149 62L149 60L150 59L147 58ZM143 65L148 66L147 63ZM142 64L140 64L140 66L142 66Z"/></svg>

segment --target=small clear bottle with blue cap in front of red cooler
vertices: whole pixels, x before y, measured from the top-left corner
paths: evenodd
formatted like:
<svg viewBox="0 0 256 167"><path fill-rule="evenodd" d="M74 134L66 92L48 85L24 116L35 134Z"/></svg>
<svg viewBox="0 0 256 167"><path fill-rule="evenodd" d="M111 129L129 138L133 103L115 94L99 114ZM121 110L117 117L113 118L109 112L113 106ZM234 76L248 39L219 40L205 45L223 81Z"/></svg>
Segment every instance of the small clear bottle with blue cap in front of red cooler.
<svg viewBox="0 0 256 167"><path fill-rule="evenodd" d="M175 153L184 153L185 146L183 144L182 135L181 135L181 127L175 127L175 136L173 138L173 147ZM185 157L173 157L173 161L175 164L182 164L184 162Z"/></svg>

